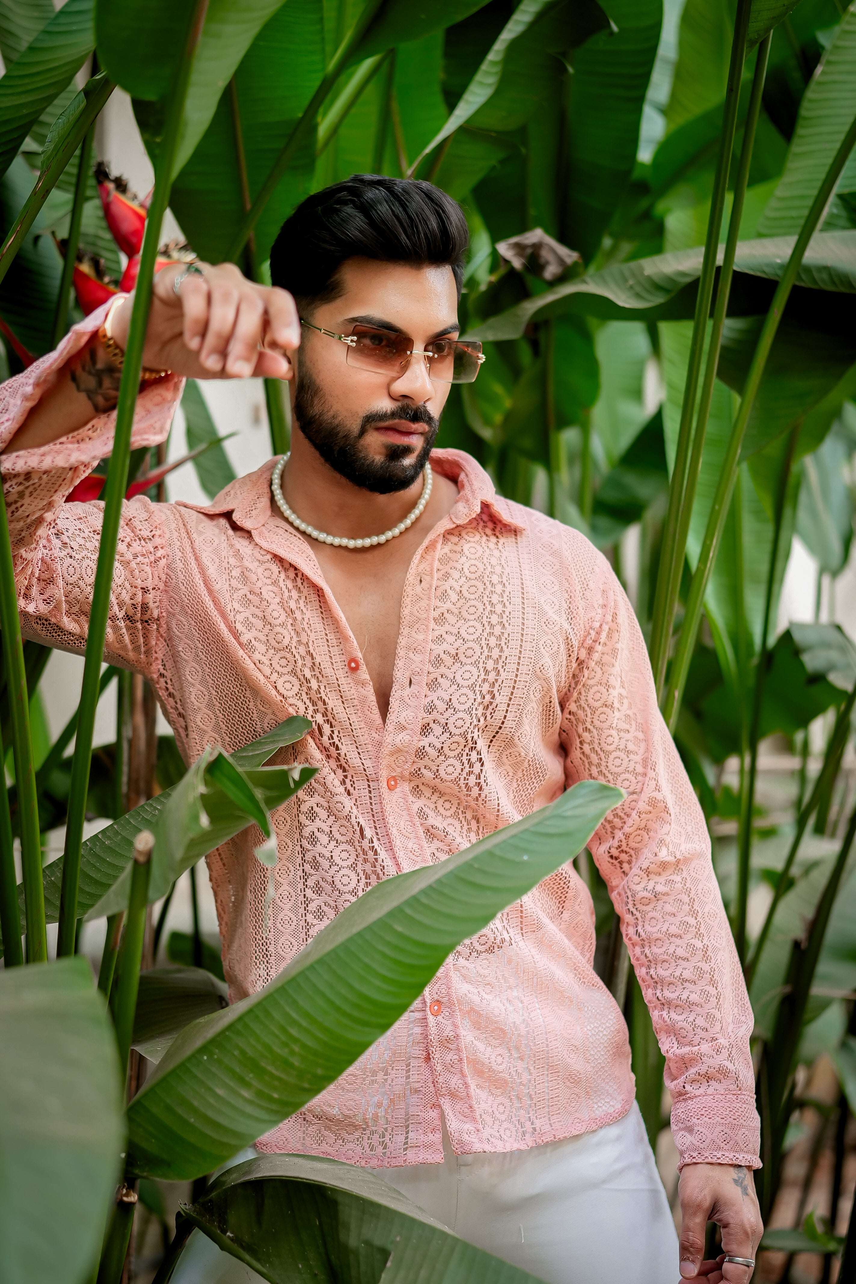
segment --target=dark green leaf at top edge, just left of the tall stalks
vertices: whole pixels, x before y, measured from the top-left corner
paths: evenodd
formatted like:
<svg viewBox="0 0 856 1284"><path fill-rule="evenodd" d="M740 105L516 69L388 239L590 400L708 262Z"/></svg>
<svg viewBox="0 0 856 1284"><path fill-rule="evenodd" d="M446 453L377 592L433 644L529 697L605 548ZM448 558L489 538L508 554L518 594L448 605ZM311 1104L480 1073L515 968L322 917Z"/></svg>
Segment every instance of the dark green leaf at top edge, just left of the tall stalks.
<svg viewBox="0 0 856 1284"><path fill-rule="evenodd" d="M576 51L567 113L566 209L560 239L586 263L597 253L633 173L662 24L662 0L607 0L604 8L617 31L598 32Z"/></svg>

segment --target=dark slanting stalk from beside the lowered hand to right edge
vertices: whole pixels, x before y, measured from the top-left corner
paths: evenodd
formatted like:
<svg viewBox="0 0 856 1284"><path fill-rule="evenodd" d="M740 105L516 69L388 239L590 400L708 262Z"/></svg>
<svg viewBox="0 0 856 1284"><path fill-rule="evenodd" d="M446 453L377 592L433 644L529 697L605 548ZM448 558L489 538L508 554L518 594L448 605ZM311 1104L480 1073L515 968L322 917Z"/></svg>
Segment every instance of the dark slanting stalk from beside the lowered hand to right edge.
<svg viewBox="0 0 856 1284"><path fill-rule="evenodd" d="M817 969L820 950L823 949L824 937L826 935L829 919L835 904L835 896L838 895L838 889L844 873L844 867L853 845L853 838L856 838L856 809L850 818L844 841L841 845L841 850L835 858L826 886L824 887L820 900L817 901L811 927L803 940L793 942L787 985L784 987L784 994L782 995L782 1002L779 1003L773 1037L767 1044L765 1044L762 1052L762 1058L766 1062L767 1108L770 1127L773 1130L769 1147L770 1153L773 1154L773 1165L771 1168L764 1174L761 1192L761 1211L765 1217L770 1211L773 1194L778 1185L778 1170L782 1162L782 1143L784 1140L784 1130L788 1122L787 1117L791 1113L791 1111L785 1108L785 1102L789 1099L788 1085L791 1081L793 1062L797 1055L797 1048L800 1045L800 1036L802 1034L806 1008L809 1005L811 985Z"/></svg>

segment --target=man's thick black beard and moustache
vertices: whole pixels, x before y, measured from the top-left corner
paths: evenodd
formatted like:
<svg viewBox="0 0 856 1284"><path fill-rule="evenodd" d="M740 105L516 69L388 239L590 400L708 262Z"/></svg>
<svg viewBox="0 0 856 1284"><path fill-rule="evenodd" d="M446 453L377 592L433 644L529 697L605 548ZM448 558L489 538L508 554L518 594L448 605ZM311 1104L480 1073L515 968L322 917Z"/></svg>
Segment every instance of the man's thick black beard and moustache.
<svg viewBox="0 0 856 1284"><path fill-rule="evenodd" d="M323 393L305 370L298 376L294 413L300 431L321 458L347 482L375 494L391 494L413 485L425 470L440 429L425 406L400 406L398 410L368 411L354 431L325 406ZM408 424L427 424L429 430L416 456L412 446L394 442L386 444L386 458L382 460L361 449L359 442L370 428L402 419Z"/></svg>

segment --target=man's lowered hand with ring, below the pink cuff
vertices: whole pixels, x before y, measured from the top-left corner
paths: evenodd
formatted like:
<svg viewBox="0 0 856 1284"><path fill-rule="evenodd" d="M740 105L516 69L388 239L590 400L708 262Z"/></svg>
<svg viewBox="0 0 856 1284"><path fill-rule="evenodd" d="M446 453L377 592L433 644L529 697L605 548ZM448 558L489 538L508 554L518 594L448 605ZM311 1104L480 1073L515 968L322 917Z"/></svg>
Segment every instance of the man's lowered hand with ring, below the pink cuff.
<svg viewBox="0 0 856 1284"><path fill-rule="evenodd" d="M681 1170L678 1188L683 1225L680 1231L681 1279L701 1276L705 1284L748 1284L748 1266L726 1262L734 1257L757 1256L764 1226L755 1194L755 1180L748 1168L729 1163L688 1163ZM705 1230L708 1221L723 1231L723 1253L716 1261L702 1261Z"/></svg>

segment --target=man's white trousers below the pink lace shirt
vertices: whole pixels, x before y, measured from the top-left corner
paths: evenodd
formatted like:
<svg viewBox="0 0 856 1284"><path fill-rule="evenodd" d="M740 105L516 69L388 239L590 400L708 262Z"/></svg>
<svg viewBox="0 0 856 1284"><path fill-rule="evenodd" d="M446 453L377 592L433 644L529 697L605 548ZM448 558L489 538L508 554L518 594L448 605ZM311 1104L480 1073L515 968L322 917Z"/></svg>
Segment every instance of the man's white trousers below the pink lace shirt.
<svg viewBox="0 0 856 1284"><path fill-rule="evenodd" d="M638 1106L584 1136L508 1154L452 1152L377 1176L461 1239L547 1284L678 1284L678 1235ZM173 1284L263 1284L194 1231Z"/></svg>

